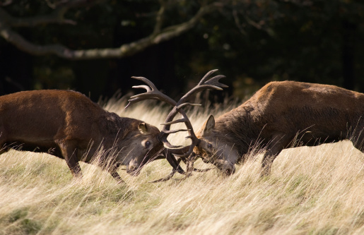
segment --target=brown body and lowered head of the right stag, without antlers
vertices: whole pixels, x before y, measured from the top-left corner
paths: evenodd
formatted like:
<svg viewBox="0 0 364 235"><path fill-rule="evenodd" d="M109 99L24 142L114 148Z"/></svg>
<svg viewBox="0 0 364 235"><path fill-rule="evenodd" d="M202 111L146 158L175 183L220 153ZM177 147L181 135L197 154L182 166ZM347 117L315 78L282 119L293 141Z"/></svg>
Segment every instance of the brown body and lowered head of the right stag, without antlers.
<svg viewBox="0 0 364 235"><path fill-rule="evenodd" d="M212 128L213 117L206 121L197 133L202 141L194 152L232 174L234 164L259 145L266 148L263 174L269 174L279 152L297 145L294 140L311 146L350 139L363 151L363 114L362 93L334 85L272 82L218 117Z"/></svg>

